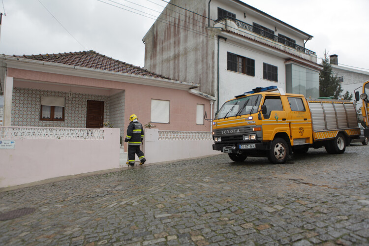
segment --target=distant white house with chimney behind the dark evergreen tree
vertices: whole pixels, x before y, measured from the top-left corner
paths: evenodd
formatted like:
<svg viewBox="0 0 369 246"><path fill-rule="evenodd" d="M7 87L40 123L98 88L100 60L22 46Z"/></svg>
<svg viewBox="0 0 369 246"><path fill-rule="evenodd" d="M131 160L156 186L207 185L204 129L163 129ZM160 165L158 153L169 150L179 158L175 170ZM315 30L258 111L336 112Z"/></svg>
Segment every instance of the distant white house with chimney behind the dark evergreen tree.
<svg viewBox="0 0 369 246"><path fill-rule="evenodd" d="M346 91L352 93L352 99L355 100L355 90L359 91L360 94L362 93L363 89L361 87L364 82L369 80L369 72L338 65L338 55L331 55L329 58L332 72L334 75L337 75L341 83L342 93Z"/></svg>

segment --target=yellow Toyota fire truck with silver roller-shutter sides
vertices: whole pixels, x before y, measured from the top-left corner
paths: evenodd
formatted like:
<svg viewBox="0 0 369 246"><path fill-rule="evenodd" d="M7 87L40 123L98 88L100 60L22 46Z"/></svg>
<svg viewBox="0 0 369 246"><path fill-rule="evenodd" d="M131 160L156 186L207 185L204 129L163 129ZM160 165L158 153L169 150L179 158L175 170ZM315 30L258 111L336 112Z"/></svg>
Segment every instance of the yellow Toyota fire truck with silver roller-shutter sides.
<svg viewBox="0 0 369 246"><path fill-rule="evenodd" d="M307 153L310 147L341 154L359 135L352 102L307 99L276 86L235 96L213 120L213 150L228 153L233 161L263 156L282 164L291 152Z"/></svg>

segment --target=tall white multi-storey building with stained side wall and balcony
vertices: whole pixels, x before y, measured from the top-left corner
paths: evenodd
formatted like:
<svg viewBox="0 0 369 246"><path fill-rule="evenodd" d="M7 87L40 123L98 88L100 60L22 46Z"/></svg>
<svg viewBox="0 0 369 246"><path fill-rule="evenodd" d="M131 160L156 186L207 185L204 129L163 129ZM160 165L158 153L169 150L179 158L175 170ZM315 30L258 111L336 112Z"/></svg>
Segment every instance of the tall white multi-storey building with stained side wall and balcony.
<svg viewBox="0 0 369 246"><path fill-rule="evenodd" d="M200 84L218 107L256 87L317 98L311 38L240 0L171 0L143 38L145 68Z"/></svg>

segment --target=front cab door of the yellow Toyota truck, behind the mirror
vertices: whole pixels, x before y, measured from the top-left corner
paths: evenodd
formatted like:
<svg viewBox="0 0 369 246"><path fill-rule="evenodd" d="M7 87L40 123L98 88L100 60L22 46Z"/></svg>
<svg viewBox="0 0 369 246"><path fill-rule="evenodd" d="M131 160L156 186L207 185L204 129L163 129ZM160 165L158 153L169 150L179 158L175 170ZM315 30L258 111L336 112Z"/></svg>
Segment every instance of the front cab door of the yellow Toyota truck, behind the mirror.
<svg viewBox="0 0 369 246"><path fill-rule="evenodd" d="M273 140L277 132L286 132L289 135L288 115L280 96L266 95L263 104L267 106L267 113L263 115L263 140Z"/></svg>

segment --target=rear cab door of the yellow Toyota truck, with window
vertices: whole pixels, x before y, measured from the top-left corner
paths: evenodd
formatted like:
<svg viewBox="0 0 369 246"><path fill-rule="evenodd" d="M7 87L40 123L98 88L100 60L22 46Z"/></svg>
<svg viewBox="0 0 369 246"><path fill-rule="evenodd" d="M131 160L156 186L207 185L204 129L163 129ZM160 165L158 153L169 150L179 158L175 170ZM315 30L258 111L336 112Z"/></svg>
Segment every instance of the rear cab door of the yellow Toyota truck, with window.
<svg viewBox="0 0 369 246"><path fill-rule="evenodd" d="M291 145L311 143L311 117L305 98L287 96L291 110Z"/></svg>

